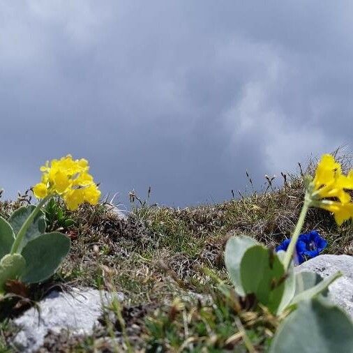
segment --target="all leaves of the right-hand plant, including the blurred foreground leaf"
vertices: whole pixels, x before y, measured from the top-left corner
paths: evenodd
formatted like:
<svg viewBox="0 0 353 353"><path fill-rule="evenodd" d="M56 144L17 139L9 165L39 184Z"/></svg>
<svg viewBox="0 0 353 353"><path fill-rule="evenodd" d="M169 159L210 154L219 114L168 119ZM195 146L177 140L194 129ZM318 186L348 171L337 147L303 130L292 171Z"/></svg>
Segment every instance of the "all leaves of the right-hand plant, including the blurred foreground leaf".
<svg viewBox="0 0 353 353"><path fill-rule="evenodd" d="M230 238L225 247L225 266L236 293L239 296L255 294L257 301L275 315L290 313L283 323L283 329L278 330L273 339L275 348L272 352L298 352L296 346L291 348L290 344L287 345L287 336L291 336L288 332L292 332L292 336L294 332L298 332L296 339L300 335L303 341L310 341L313 337L316 340L327 340L325 332L328 331L328 325L334 326L338 317L344 328L343 332L346 334L350 331L351 338L348 340L353 347L353 324L350 318L336 306L327 303L328 299L318 299L326 296L329 285L342 276L342 273L335 273L325 279L313 272L294 273L293 263L286 270L284 259L283 251L274 253L245 235ZM298 313L305 310L306 315L294 314L296 310ZM315 322L314 336L308 329L308 324L305 324L306 320ZM342 339L341 334L336 334L337 330L334 332L336 336L330 336L331 343L328 347L336 347ZM287 347L286 350L283 350L284 346Z"/></svg>

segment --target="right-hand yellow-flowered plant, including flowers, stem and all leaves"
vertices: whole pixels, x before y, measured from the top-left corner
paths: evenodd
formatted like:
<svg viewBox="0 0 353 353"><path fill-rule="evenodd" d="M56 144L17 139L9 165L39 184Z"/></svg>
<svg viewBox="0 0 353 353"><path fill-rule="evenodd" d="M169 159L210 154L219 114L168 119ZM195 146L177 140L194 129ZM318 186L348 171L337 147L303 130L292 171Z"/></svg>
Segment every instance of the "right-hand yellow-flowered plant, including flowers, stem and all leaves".
<svg viewBox="0 0 353 353"><path fill-rule="evenodd" d="M346 190L353 189L353 171L347 177L344 176L341 174L340 165L333 157L325 155L317 165L315 178L306 177L305 184L306 195L303 208L286 252L273 253L273 250L248 236L230 238L225 248L225 265L237 294L239 296L255 294L257 301L275 315L290 313L283 324L284 329L278 330L273 340L273 345L275 343L278 345L274 347L280 347L280 349L273 348L273 352L297 351L293 345L287 347L288 340L285 336L288 336L288 332L297 332L298 335L301 332L303 315L300 316L298 313L304 310L302 308L306 308L308 320L312 319L317 324L315 327L318 329L313 339L318 342L327 339L327 327L329 324L334 325L332 317L340 317L344 332L350 332L351 337L353 333L353 323L339 308L329 309L329 304L317 299L317 296L326 294L329 285L342 276L342 273L334 273L325 279L315 273L294 274L292 261L296 241L310 206L333 212L338 224L352 218L353 204ZM327 301L327 299L322 300ZM303 336L306 340L310 340L310 335L310 327L308 327L294 339L301 339ZM338 343L339 340L337 334L332 342ZM336 343L332 343L332 347L335 347ZM353 338L349 340L349 344L353 347ZM287 347L286 350L283 350L284 346ZM307 350L307 352L313 352L313 350Z"/></svg>

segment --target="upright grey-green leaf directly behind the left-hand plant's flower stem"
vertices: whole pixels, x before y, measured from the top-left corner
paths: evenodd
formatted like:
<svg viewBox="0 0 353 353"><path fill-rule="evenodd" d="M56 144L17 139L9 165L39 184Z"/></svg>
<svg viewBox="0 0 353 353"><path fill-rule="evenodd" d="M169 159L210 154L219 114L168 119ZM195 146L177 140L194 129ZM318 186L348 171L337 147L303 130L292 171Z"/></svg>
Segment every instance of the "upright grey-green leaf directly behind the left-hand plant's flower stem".
<svg viewBox="0 0 353 353"><path fill-rule="evenodd" d="M13 231L15 232L15 236L17 236L17 233L20 231L23 223L25 222L25 220L27 220L27 218L29 218L29 215L35 208L36 206L34 205L22 206L16 211L14 211L10 218L8 218L8 223L12 225ZM22 244L19 248L19 251L21 252L22 248L26 245L28 241L30 241L31 239L35 239L36 236L39 236L40 234L43 234L43 232L45 232L46 227L47 225L45 223L44 213L40 211L38 213L38 216L36 216L36 218L34 219L33 223L29 226L24 236L24 240L22 241Z"/></svg>

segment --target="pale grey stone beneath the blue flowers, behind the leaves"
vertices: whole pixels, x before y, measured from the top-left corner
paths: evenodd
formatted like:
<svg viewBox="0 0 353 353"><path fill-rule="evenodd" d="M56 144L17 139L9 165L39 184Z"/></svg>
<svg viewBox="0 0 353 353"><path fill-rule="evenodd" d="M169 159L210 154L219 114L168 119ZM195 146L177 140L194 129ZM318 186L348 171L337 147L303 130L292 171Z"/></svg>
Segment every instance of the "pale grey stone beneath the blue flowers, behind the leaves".
<svg viewBox="0 0 353 353"><path fill-rule="evenodd" d="M349 255L319 255L296 267L297 272L313 271L322 277L341 271L343 276L329 286L329 296L353 318L353 257Z"/></svg>

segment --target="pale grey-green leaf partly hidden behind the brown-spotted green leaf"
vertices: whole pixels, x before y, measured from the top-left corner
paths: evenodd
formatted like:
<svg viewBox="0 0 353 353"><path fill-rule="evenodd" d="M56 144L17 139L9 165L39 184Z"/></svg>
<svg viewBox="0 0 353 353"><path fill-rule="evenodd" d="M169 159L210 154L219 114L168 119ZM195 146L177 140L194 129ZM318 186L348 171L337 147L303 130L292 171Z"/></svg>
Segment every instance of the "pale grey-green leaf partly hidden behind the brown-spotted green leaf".
<svg viewBox="0 0 353 353"><path fill-rule="evenodd" d="M257 244L255 239L250 236L239 235L232 236L228 239L225 246L225 266L227 267L230 280L232 281L235 291L240 296L245 296L243 285L240 278L240 262L244 253L248 248Z"/></svg>

